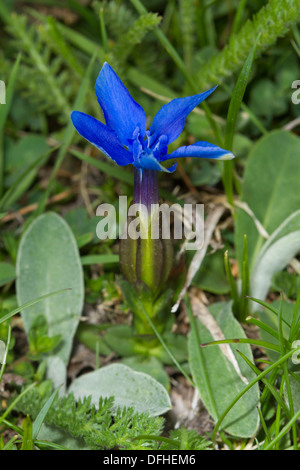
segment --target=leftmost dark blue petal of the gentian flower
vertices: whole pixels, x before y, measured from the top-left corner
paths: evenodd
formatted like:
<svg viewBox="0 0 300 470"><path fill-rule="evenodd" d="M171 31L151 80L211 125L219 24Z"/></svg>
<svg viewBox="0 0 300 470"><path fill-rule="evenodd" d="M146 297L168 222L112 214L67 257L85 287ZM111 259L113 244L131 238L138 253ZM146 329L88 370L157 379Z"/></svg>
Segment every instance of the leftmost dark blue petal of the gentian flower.
<svg viewBox="0 0 300 470"><path fill-rule="evenodd" d="M102 122L79 111L73 111L71 119L75 129L82 137L98 147L118 165L124 166L133 162L131 153L120 144L116 133Z"/></svg>

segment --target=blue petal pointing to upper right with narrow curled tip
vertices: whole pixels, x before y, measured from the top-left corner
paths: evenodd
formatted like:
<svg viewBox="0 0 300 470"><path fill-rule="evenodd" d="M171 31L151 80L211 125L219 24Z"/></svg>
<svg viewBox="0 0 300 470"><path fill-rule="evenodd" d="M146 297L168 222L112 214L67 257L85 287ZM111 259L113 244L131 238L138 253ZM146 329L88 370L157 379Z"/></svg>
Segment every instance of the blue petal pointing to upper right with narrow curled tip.
<svg viewBox="0 0 300 470"><path fill-rule="evenodd" d="M187 115L215 89L216 87L199 95L187 96L186 98L175 98L170 103L164 104L153 119L151 146L156 143L161 135L167 136L169 144L174 142L184 128Z"/></svg>

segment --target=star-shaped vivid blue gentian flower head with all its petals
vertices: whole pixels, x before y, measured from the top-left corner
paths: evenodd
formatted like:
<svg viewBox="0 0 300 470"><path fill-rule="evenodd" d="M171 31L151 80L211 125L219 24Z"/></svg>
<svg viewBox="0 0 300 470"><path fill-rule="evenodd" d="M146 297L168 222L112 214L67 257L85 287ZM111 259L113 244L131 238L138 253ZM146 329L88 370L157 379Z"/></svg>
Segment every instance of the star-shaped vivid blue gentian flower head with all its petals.
<svg viewBox="0 0 300 470"><path fill-rule="evenodd" d="M168 145L181 134L187 115L215 88L199 95L176 98L163 105L154 117L150 131L147 131L145 111L105 62L96 80L95 91L106 126L79 111L73 111L71 119L82 137L118 165L132 164L139 169L171 173L176 169L176 164L167 169L162 162L178 157L234 158L228 150L208 142L195 142L168 154Z"/></svg>

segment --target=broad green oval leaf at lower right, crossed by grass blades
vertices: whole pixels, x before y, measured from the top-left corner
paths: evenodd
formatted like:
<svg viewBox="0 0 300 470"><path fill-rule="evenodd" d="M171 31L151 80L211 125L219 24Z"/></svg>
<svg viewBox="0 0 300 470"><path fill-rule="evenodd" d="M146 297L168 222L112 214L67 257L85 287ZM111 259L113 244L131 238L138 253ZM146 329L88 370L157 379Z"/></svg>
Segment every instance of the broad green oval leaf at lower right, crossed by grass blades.
<svg viewBox="0 0 300 470"><path fill-rule="evenodd" d="M231 312L230 303L215 303L209 310L225 338L245 338L242 327ZM200 320L197 320L196 324L201 344L215 339ZM191 371L201 400L213 419L217 420L238 393L245 388L244 380L250 382L254 377L248 365L236 353L236 349L239 349L253 360L251 349L247 344L230 345L238 364L239 371L237 371L233 361L229 360L228 355L226 356L217 345L201 348L201 358L199 358L197 341L197 335L192 331L189 337ZM259 423L258 400L258 387L254 386L233 406L224 420L223 429L239 437L254 435Z"/></svg>

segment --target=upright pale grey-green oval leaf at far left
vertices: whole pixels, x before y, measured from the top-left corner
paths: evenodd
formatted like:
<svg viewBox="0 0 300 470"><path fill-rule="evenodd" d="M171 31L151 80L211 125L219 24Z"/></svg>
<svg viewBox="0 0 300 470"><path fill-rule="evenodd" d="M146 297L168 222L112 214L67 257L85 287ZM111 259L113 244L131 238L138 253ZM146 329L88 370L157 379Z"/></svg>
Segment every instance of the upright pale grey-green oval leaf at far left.
<svg viewBox="0 0 300 470"><path fill-rule="evenodd" d="M66 364L83 306L83 274L71 229L60 216L49 212L38 217L21 240L17 257L18 302L23 304L64 288L71 290L23 310L22 319L28 334L34 319L45 316L47 335L62 335L56 353Z"/></svg>

